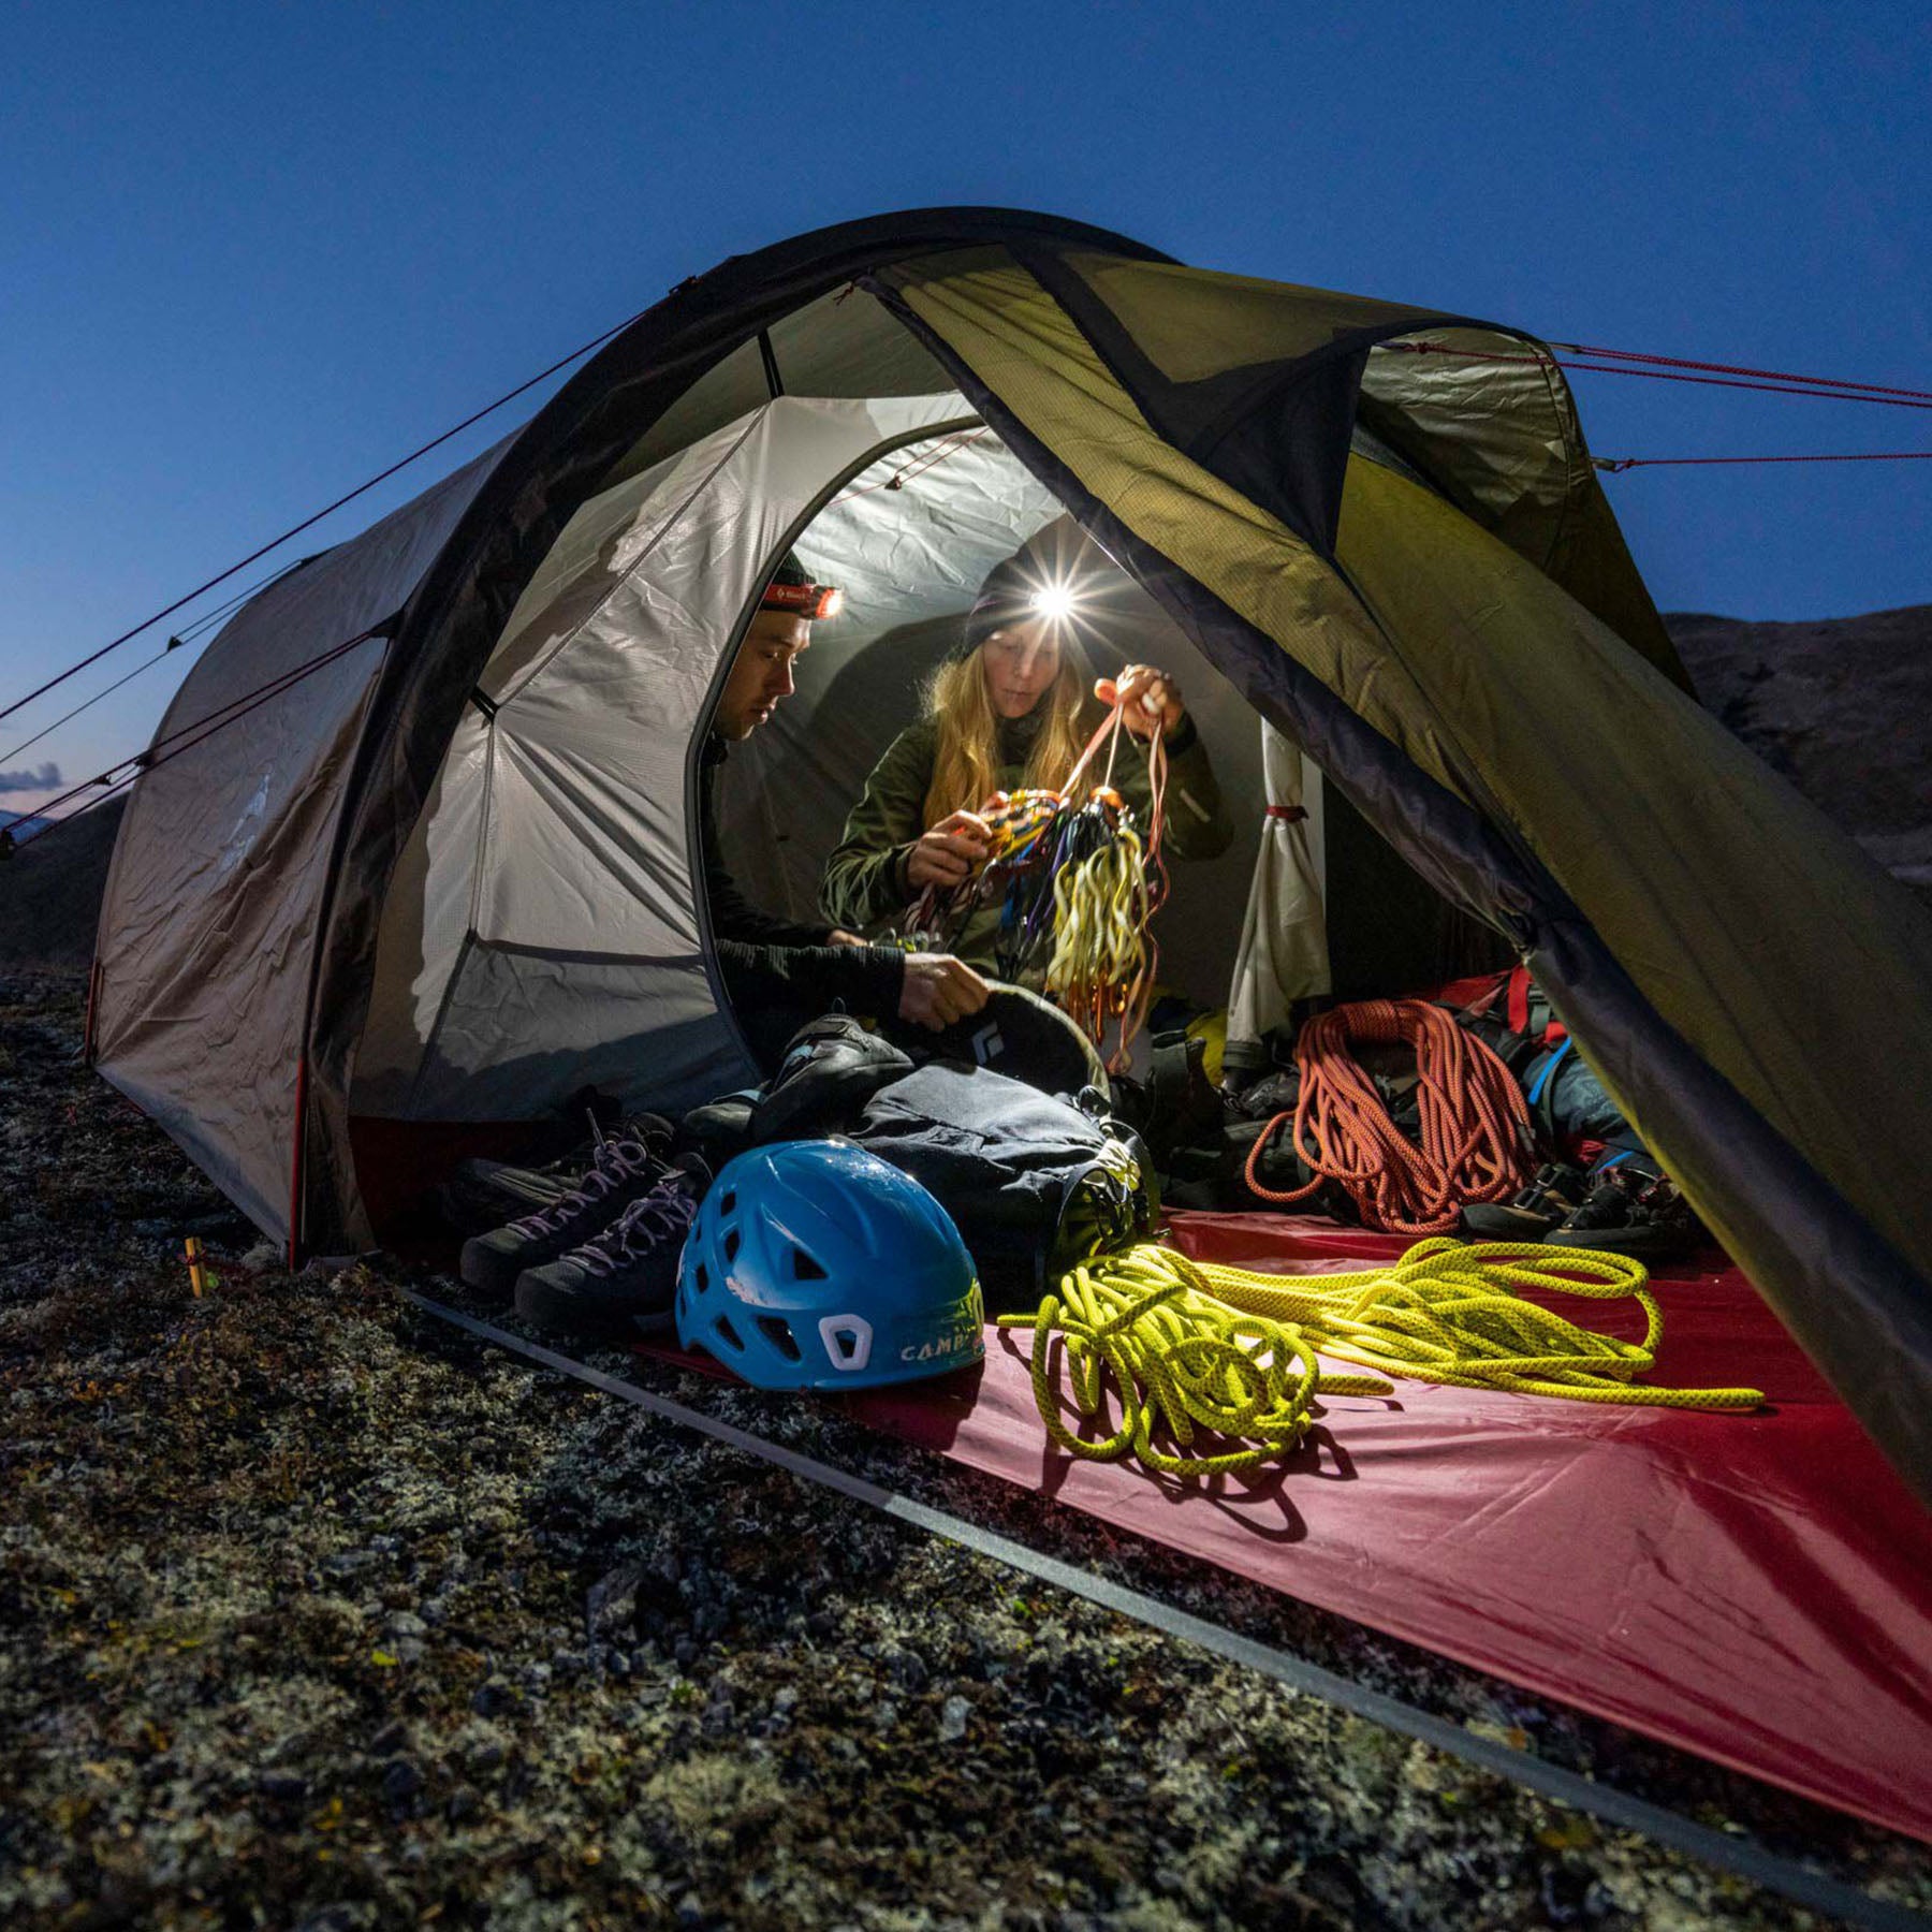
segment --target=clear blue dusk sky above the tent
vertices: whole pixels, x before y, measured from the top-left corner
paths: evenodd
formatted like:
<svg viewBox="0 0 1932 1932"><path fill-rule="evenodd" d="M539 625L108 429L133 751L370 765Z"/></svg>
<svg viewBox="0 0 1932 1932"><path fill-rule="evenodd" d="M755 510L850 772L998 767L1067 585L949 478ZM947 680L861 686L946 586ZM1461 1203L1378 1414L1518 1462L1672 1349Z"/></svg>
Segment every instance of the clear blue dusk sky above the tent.
<svg viewBox="0 0 1932 1932"><path fill-rule="evenodd" d="M1922 0L27 4L4 46L0 703L684 276L887 209L1932 390ZM1926 410L1573 381L1600 456L1932 450ZM1667 611L1932 601L1932 462L1605 487ZM147 740L187 651L6 755L162 638L0 724L0 810Z"/></svg>

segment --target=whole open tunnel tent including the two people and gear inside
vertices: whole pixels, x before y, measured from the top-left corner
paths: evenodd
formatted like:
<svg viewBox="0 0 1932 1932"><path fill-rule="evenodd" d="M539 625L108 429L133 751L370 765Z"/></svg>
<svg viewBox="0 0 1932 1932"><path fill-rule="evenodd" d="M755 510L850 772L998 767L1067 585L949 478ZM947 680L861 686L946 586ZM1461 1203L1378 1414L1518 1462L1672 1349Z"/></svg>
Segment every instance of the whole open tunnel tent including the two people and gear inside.
<svg viewBox="0 0 1932 1932"><path fill-rule="evenodd" d="M466 1242L1932 1833L1928 985L1544 344L931 211L242 603L89 1051L292 1256Z"/></svg>

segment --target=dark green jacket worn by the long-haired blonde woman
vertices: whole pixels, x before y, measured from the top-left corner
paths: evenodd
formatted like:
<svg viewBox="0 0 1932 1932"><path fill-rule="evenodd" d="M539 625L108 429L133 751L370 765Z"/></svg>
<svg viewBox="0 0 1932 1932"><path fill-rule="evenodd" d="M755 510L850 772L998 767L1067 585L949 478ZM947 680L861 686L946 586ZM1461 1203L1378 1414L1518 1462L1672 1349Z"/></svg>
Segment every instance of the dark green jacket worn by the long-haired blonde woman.
<svg viewBox="0 0 1932 1932"><path fill-rule="evenodd" d="M1026 759L1039 734L1041 715L999 721L995 784L1010 792L1026 782ZM860 802L846 819L844 837L825 862L819 906L835 925L862 931L898 918L916 896L906 885L906 852L925 831L925 788L933 782L939 728L931 719L908 724L871 769ZM1115 790L1148 823L1148 759L1138 740L1121 746L1113 767ZM1229 848L1235 827L1221 804L1208 748L1184 717L1167 742L1167 829L1163 850L1175 858L1215 858ZM980 972L993 970L999 939L999 900L966 922L952 951Z"/></svg>

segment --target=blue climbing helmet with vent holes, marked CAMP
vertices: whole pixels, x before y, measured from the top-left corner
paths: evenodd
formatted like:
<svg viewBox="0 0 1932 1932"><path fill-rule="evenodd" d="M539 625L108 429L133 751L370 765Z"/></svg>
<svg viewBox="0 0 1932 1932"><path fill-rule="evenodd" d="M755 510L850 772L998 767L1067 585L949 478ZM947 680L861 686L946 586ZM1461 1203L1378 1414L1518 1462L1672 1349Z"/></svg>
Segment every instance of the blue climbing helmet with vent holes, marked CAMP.
<svg viewBox="0 0 1932 1932"><path fill-rule="evenodd" d="M846 1140L752 1148L711 1184L678 1269L678 1343L759 1389L877 1389L985 1356L952 1217Z"/></svg>

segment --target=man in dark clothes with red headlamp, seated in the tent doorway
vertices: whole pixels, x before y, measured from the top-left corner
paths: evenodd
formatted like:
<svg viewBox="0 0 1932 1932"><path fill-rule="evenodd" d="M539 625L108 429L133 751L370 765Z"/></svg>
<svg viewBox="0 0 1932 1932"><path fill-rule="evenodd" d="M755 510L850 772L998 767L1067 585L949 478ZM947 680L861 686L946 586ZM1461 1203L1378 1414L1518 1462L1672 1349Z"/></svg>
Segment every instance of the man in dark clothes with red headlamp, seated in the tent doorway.
<svg viewBox="0 0 1932 1932"><path fill-rule="evenodd" d="M813 583L796 554L786 554L738 645L701 752L697 837L711 935L738 1022L765 1061L775 1061L808 1018L835 1007L941 1032L987 999L985 980L962 960L873 947L838 927L782 920L753 906L724 869L719 771L730 746L767 724L792 696L792 667L811 645L813 622L837 609L837 595L831 585Z"/></svg>

